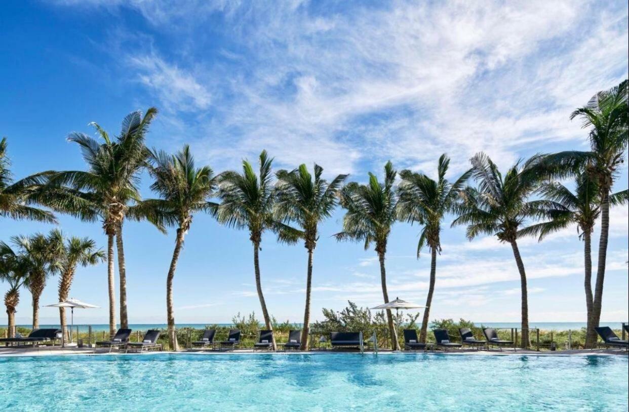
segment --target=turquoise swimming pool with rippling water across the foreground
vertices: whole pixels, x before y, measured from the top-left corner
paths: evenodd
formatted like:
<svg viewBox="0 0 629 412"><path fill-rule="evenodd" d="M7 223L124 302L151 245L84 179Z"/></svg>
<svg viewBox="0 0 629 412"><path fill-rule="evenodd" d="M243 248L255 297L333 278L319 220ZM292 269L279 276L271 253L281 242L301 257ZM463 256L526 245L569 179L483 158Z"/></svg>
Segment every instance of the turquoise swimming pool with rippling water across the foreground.
<svg viewBox="0 0 629 412"><path fill-rule="evenodd" d="M623 411L626 357L261 354L0 358L0 410Z"/></svg>

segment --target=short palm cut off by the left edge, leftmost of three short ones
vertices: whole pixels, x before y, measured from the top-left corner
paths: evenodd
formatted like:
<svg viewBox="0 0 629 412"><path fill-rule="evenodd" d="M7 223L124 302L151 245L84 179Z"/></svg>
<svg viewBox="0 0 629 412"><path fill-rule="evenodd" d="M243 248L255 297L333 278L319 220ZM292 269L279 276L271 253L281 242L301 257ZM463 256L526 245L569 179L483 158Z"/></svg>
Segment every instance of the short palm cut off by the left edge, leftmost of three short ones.
<svg viewBox="0 0 629 412"><path fill-rule="evenodd" d="M29 269L30 262L27 259L15 253L6 243L0 242L0 281L9 284L9 290L4 294L9 338L15 336L15 313L19 304L19 288L24 284Z"/></svg>

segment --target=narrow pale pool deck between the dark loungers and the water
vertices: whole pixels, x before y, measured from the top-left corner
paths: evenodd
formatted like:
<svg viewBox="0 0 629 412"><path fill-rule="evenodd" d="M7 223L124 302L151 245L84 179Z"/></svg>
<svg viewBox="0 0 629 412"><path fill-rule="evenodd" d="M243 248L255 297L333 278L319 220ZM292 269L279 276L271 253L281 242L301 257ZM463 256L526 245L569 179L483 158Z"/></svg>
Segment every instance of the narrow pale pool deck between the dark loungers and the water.
<svg viewBox="0 0 629 412"><path fill-rule="evenodd" d="M309 352L289 351L289 352L267 352L257 351L253 352L251 349L238 349L232 352L222 352L213 350L182 350L179 352L142 352L142 353L129 353L123 352L111 352L107 349L97 349L94 351L92 348L77 348L77 347L0 347L0 357L31 357L31 356L59 356L59 355L119 355L119 356L147 356L154 354L193 354L193 355L264 355L264 354L281 354L281 355L299 355L299 354L359 354L359 352L347 352L339 350L312 350ZM391 355L391 354L423 354L425 352L392 352L391 350L379 350L378 355ZM502 355L502 356L584 356L584 355L596 355L596 356L627 356L626 350L619 349L594 349L594 350L562 350L557 352L537 352L535 350L522 350L518 349L515 352L513 350L449 350L447 352L426 352L427 354L440 354L440 355ZM365 352L365 355L374 354L374 352Z"/></svg>

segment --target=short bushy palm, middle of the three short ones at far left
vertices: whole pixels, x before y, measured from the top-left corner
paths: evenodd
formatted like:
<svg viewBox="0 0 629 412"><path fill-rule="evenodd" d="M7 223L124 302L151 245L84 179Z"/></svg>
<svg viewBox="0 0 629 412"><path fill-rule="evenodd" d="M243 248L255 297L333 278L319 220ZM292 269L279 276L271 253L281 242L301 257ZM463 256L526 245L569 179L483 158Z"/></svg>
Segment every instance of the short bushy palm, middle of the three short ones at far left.
<svg viewBox="0 0 629 412"><path fill-rule="evenodd" d="M54 253L50 238L43 233L31 236L14 236L11 242L23 257L30 262L25 286L33 299L33 329L39 328L39 301L46 287L48 276L57 269L58 255Z"/></svg>

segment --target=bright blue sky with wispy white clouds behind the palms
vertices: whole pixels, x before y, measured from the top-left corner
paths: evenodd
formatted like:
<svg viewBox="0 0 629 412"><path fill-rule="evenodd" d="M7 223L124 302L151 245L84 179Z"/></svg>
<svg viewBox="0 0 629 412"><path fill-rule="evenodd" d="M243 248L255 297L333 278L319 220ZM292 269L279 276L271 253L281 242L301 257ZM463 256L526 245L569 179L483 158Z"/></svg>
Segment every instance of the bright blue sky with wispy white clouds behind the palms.
<svg viewBox="0 0 629 412"><path fill-rule="evenodd" d="M84 170L72 131L96 121L118 133L123 117L159 109L147 142L175 152L191 145L216 172L255 161L275 169L321 165L365 182L396 169L448 178L486 152L506 169L538 152L587 150L587 130L571 121L599 90L628 75L626 1L10 1L0 9L0 135L16 178L41 170ZM626 166L615 190L626 189ZM150 178L143 175L142 194ZM382 303L376 252L338 243L342 210L320 227L312 313ZM69 235L106 246L99 223L58 216ZM472 242L443 224L431 319L520 320L520 278L511 248L493 237ZM602 321L628 318L627 206L612 209ZM0 239L53 225L0 222ZM389 296L424 303L430 254L416 259L418 226L396 223L387 250ZM165 282L174 231L125 224L130 323L165 322ZM593 249L597 250L598 227ZM526 238L532 323L585 321L582 242L576 227L542 243ZM260 315L252 245L245 231L198 214L174 281L178 323L223 323ZM306 249L267 233L260 267L277 320L303 320ZM594 253L596 267L596 253ZM81 268L71 296L101 306L75 323L106 323L106 265ZM42 304L57 302L48 279ZM116 274L116 282L118 282ZM118 284L116 283L116 288ZM4 293L6 284L0 284ZM57 323L42 308L42 323ZM261 316L259 316L261 318ZM21 292L18 323L31 321ZM0 321L3 323L3 321Z"/></svg>

